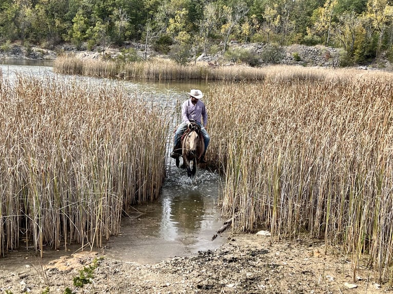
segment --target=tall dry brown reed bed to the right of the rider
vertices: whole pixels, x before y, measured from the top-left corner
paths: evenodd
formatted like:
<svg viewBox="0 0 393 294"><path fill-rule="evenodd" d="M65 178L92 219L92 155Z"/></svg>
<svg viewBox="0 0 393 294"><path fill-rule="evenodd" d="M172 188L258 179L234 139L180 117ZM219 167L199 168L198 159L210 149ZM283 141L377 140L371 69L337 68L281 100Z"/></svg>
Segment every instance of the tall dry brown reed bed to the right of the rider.
<svg viewBox="0 0 393 294"><path fill-rule="evenodd" d="M271 241L325 238L352 256L354 278L365 259L392 280L393 76L270 70L205 98L223 214L242 230L271 230Z"/></svg>

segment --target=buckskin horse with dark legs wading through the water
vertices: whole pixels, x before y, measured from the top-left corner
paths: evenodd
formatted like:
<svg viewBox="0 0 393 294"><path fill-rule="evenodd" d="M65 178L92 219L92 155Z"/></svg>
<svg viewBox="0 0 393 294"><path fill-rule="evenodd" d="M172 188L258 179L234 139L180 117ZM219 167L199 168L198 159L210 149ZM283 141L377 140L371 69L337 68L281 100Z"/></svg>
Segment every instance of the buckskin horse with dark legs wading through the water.
<svg viewBox="0 0 393 294"><path fill-rule="evenodd" d="M205 151L205 143L201 134L201 127L191 122L191 125L184 132L182 139L182 157L183 165L187 170L188 177L194 176L197 172L197 164ZM192 170L190 167L190 161L192 161ZM180 159L176 158L176 166L179 167Z"/></svg>

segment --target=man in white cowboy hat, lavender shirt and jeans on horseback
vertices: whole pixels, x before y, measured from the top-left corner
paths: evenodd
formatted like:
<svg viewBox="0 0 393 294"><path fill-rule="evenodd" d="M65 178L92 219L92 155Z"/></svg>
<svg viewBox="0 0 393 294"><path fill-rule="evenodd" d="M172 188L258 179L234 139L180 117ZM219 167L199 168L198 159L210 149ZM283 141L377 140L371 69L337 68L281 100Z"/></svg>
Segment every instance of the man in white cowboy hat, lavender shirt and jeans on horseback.
<svg viewBox="0 0 393 294"><path fill-rule="evenodd" d="M174 142L173 142L173 151L171 153L172 158L179 158L182 154L182 146L180 144L180 140L182 135L187 130L187 128L191 127L191 121L195 121L201 127L201 134L205 143L205 151L201 156L200 163L206 163L205 154L207 150L207 146L210 142L209 134L207 133L207 110L205 107L205 103L202 102L201 98L203 97L201 90L192 89L190 93L190 98L183 102L182 104L182 123L176 129L174 134ZM203 118L203 125L201 118Z"/></svg>

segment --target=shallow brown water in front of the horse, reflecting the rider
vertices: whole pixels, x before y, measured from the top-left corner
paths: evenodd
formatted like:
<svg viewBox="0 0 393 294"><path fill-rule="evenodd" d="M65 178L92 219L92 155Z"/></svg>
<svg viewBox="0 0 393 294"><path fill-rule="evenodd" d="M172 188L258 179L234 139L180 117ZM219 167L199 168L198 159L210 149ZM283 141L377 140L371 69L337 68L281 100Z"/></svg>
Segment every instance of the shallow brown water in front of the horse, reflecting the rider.
<svg viewBox="0 0 393 294"><path fill-rule="evenodd" d="M108 257L154 263L226 242L226 234L211 240L222 226L220 209L215 206L220 177L198 169L190 180L174 162L168 168L160 199L135 206L138 212L122 220L122 234L106 244Z"/></svg>

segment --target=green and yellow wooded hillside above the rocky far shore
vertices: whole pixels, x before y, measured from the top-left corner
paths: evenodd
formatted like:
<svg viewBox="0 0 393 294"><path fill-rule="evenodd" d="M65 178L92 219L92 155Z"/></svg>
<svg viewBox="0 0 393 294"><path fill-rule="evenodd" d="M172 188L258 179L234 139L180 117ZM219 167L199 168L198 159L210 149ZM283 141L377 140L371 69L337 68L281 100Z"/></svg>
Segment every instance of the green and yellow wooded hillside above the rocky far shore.
<svg viewBox="0 0 393 294"><path fill-rule="evenodd" d="M137 41L182 57L225 53L240 43L324 45L362 64L393 59L393 6L387 0L1 0L0 49L79 49ZM296 56L295 56L296 57Z"/></svg>

